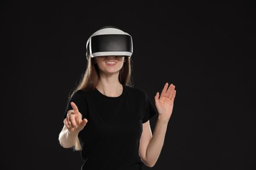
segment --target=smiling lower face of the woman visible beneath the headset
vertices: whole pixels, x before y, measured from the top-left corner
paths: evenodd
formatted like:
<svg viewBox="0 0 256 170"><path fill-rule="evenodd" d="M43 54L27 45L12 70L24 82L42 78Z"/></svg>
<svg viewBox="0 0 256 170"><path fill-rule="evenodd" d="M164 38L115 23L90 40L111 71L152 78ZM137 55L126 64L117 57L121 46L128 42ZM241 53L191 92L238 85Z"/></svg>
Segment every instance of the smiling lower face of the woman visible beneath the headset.
<svg viewBox="0 0 256 170"><path fill-rule="evenodd" d="M100 56L96 57L95 63L98 65L100 74L113 74L119 73L123 67L124 57L123 56Z"/></svg>

